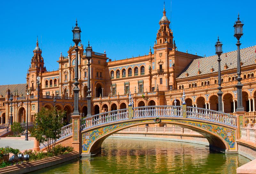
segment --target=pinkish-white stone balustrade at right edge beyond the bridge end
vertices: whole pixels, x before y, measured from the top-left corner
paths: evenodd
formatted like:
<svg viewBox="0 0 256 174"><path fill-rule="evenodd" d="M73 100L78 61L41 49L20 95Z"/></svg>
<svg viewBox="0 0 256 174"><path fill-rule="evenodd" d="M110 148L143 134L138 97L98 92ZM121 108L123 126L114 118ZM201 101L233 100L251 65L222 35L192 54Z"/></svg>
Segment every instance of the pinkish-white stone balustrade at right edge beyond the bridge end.
<svg viewBox="0 0 256 174"><path fill-rule="evenodd" d="M256 124L248 124L247 127L241 127L241 140L252 142L256 144Z"/></svg>

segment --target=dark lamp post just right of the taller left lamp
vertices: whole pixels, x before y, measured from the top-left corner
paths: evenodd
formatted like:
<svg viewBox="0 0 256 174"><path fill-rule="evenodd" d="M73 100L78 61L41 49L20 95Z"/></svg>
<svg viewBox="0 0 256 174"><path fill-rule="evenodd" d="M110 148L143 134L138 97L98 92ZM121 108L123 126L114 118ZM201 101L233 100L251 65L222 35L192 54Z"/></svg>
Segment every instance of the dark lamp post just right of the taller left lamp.
<svg viewBox="0 0 256 174"><path fill-rule="evenodd" d="M88 40L88 46L85 49L86 50L86 58L88 60L87 62L87 66L88 66L88 80L87 80L87 87L88 87L88 91L87 91L87 115L86 117L90 117L91 114L91 77L90 77L90 61L92 58L92 46L90 46L89 40Z"/></svg>

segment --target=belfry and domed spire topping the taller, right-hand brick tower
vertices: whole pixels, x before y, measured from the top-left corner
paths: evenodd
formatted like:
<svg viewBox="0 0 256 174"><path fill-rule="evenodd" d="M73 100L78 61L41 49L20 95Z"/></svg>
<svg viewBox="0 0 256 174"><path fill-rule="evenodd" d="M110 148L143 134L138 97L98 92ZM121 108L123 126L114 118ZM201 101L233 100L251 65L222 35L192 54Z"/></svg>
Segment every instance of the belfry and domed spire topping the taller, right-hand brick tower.
<svg viewBox="0 0 256 174"><path fill-rule="evenodd" d="M170 20L166 17L166 11L165 11L165 4L164 4L164 11L163 11L163 17L159 21L160 28L157 31L156 34L156 44L164 44L168 43L170 44L170 47L172 47L172 30L170 29Z"/></svg>

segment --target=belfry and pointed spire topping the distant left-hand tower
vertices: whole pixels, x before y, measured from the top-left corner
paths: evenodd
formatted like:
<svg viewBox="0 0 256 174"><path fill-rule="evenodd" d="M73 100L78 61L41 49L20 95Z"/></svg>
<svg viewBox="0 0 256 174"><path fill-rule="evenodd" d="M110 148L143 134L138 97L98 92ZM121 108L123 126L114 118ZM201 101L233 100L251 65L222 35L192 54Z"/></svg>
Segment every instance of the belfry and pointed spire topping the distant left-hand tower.
<svg viewBox="0 0 256 174"><path fill-rule="evenodd" d="M31 59L31 68L42 69L46 71L44 67L44 59L42 57L42 50L38 47L38 37L36 39L36 47L33 50L34 56Z"/></svg>

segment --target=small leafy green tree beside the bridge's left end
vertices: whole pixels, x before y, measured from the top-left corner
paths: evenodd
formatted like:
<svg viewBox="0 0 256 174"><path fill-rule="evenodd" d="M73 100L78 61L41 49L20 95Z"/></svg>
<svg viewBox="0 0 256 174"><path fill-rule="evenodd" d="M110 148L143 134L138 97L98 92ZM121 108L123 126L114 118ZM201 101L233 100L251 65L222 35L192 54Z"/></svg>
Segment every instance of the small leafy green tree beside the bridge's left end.
<svg viewBox="0 0 256 174"><path fill-rule="evenodd" d="M31 131L31 136L35 137L40 144L42 143L48 152L54 150L55 143L60 138L65 113L65 111L57 111L54 107L51 109L43 107L35 115L35 126Z"/></svg>

